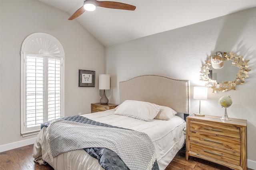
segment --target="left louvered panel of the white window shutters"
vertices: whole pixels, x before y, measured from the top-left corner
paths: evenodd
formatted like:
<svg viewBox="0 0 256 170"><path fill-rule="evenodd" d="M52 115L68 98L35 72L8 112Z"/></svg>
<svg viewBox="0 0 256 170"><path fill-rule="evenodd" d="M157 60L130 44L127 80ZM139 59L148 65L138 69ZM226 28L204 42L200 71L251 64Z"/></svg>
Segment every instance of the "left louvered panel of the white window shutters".
<svg viewBox="0 0 256 170"><path fill-rule="evenodd" d="M45 68L43 57L27 57L26 65L26 94L25 94L25 121L24 126L30 131L37 130L44 122L45 103ZM34 127L34 128L33 128Z"/></svg>

